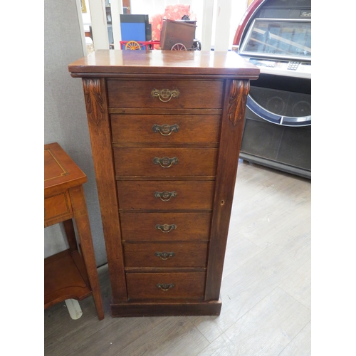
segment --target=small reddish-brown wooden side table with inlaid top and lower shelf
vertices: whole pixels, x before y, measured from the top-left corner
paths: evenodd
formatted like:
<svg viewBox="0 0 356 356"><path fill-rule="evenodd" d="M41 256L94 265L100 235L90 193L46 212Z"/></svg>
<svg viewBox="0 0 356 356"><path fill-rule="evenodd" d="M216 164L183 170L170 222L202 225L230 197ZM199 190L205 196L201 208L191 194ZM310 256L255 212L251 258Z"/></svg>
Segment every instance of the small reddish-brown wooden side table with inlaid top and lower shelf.
<svg viewBox="0 0 356 356"><path fill-rule="evenodd" d="M83 184L86 175L58 143L44 146L44 226L63 222L69 248L44 260L44 308L66 299L93 295L99 320L104 318L98 270ZM77 227L79 249L72 219Z"/></svg>

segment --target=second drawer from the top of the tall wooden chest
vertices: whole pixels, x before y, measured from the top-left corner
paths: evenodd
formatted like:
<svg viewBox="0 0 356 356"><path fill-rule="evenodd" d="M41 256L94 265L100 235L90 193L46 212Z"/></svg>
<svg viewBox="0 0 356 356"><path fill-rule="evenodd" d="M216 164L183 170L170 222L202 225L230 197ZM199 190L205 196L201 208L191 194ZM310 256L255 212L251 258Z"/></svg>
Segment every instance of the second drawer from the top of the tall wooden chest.
<svg viewBox="0 0 356 356"><path fill-rule="evenodd" d="M219 142L219 115L111 115L113 142Z"/></svg>

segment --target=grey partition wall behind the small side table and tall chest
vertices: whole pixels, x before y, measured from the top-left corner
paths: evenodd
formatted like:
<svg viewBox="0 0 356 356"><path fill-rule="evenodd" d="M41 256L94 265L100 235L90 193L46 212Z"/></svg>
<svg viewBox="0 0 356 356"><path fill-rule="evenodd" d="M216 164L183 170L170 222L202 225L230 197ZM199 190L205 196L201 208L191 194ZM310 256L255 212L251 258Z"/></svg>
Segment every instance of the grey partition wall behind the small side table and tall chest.
<svg viewBox="0 0 356 356"><path fill-rule="evenodd" d="M81 79L68 64L84 56L75 0L44 2L44 144L58 142L85 172L84 184L97 266L107 262ZM45 257L66 248L60 224L44 232Z"/></svg>

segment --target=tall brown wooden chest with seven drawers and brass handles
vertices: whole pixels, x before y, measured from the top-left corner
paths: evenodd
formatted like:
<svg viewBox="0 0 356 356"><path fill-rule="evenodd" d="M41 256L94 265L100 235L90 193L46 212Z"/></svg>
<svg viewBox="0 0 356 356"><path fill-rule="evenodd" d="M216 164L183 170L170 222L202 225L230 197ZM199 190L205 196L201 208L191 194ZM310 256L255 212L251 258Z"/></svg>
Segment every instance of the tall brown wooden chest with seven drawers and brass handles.
<svg viewBox="0 0 356 356"><path fill-rule="evenodd" d="M234 52L95 51L85 105L112 316L219 315L249 80Z"/></svg>

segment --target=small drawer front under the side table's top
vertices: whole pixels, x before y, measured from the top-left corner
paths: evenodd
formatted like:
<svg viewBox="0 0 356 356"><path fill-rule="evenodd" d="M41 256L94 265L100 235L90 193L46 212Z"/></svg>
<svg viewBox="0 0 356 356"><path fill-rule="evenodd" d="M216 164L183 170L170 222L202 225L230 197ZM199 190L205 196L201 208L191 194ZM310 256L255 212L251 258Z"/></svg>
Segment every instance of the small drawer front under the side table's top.
<svg viewBox="0 0 356 356"><path fill-rule="evenodd" d="M72 214L68 191L44 199L44 221L64 219ZM68 217L69 219L69 217Z"/></svg>

